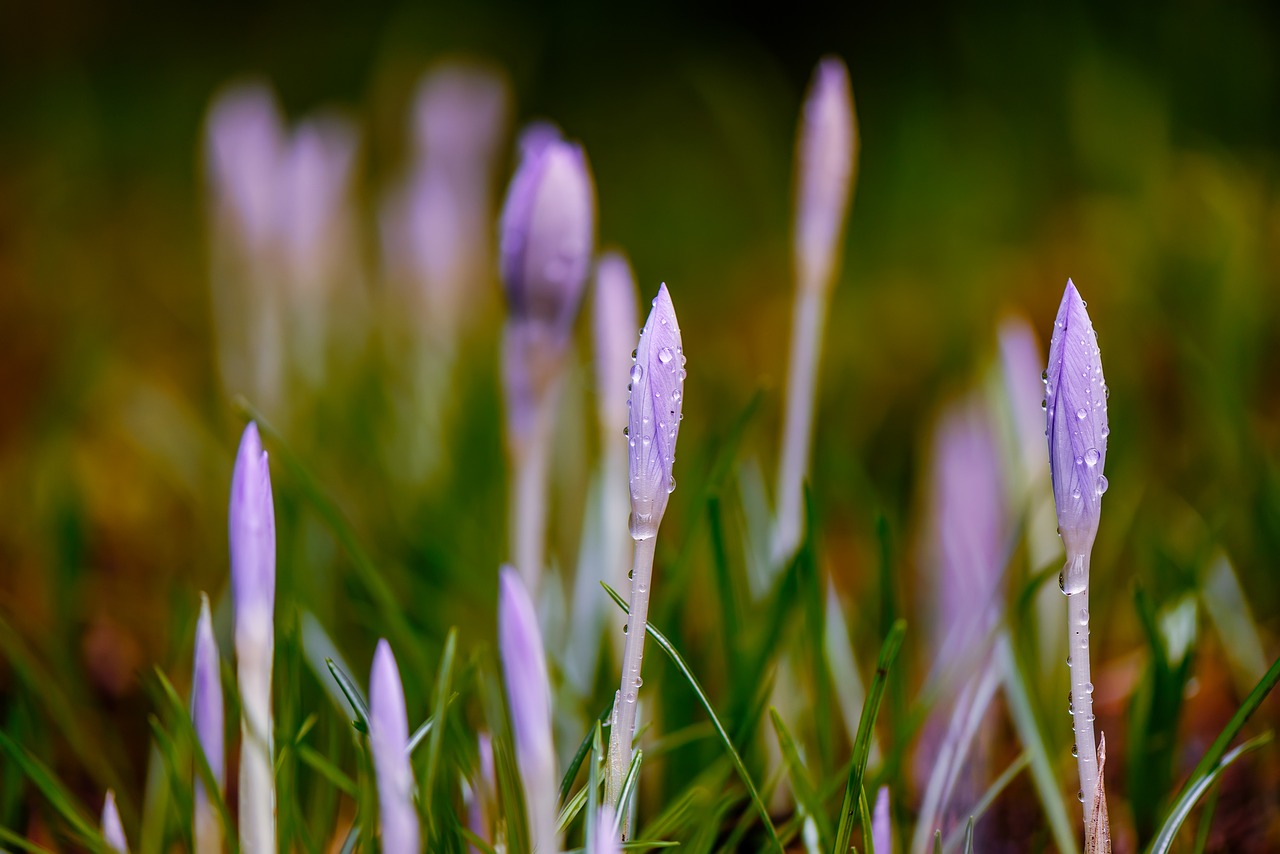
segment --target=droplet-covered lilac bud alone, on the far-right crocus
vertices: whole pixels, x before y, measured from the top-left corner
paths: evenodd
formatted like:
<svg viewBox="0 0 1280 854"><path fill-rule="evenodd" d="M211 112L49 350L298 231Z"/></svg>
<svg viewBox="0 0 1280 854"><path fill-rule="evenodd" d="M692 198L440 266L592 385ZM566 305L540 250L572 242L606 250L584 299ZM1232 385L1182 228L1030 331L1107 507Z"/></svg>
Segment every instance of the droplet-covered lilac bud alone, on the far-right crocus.
<svg viewBox="0 0 1280 854"><path fill-rule="evenodd" d="M1107 384L1098 338L1070 279L1053 323L1044 373L1048 463L1068 558L1087 556L1098 531L1107 479ZM1083 579L1082 579L1083 583Z"/></svg>

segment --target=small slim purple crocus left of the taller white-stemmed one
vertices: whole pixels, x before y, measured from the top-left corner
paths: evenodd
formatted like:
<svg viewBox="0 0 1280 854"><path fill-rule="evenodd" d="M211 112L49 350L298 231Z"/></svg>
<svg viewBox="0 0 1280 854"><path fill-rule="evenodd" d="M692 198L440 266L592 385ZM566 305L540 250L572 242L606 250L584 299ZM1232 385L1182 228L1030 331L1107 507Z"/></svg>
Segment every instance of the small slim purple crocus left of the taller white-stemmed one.
<svg viewBox="0 0 1280 854"><path fill-rule="evenodd" d="M191 679L191 723L196 730L200 749L205 753L214 782L221 794L225 786L223 748L223 682L214 622L209 612L209 597L200 594L200 621L196 624L196 661ZM223 828L214 809L210 793L205 791L204 777L196 775L195 822L192 836L196 854L216 854L223 850Z"/></svg>

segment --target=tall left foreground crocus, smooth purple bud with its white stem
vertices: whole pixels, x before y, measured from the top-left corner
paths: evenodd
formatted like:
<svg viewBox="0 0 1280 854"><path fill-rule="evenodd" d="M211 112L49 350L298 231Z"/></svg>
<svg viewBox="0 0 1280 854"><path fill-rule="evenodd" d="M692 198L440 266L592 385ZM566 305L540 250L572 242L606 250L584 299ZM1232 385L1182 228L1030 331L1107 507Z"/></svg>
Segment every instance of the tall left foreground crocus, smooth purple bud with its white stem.
<svg viewBox="0 0 1280 854"><path fill-rule="evenodd" d="M271 666L275 647L275 510L257 425L244 428L230 503L232 598L241 691L239 834L246 854L275 851Z"/></svg>

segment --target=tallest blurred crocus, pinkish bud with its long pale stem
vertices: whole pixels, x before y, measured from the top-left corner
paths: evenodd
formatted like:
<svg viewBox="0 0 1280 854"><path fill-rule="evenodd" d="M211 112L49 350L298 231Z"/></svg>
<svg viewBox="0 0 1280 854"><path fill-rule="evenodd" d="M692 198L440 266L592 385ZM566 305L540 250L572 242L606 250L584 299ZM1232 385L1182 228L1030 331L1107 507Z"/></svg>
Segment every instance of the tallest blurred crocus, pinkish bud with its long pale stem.
<svg viewBox="0 0 1280 854"><path fill-rule="evenodd" d="M796 305L778 455L778 516L772 554L777 566L795 553L804 529L804 479L813 439L818 360L856 163L858 129L849 70L840 59L828 56L814 70L796 143Z"/></svg>

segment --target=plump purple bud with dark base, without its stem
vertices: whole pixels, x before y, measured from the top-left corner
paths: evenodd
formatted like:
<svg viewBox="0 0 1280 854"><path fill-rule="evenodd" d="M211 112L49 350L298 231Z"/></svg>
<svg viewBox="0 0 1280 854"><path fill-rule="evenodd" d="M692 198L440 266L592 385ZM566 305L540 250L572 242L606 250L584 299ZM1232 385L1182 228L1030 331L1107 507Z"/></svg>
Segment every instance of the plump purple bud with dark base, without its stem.
<svg viewBox="0 0 1280 854"><path fill-rule="evenodd" d="M526 137L502 211L499 260L513 320L568 335L586 287L595 191L582 149L539 131Z"/></svg>

